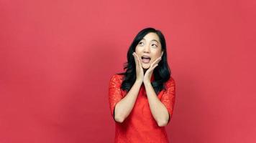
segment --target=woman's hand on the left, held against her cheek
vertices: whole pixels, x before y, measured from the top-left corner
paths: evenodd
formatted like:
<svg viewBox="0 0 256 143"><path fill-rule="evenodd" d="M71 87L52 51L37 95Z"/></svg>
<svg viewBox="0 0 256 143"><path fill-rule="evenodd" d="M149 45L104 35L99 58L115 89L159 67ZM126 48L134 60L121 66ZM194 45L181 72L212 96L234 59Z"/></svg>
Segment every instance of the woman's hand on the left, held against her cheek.
<svg viewBox="0 0 256 143"><path fill-rule="evenodd" d="M143 82L144 71L142 68L142 61L135 52L133 52L132 55L134 56L134 61L136 63L136 81Z"/></svg>

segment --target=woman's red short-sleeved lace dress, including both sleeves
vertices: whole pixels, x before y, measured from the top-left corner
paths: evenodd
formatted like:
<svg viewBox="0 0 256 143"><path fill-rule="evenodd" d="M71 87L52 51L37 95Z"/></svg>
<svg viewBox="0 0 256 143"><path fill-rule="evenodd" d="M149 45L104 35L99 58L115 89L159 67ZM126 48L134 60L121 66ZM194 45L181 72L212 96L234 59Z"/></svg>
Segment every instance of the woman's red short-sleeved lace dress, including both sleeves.
<svg viewBox="0 0 256 143"><path fill-rule="evenodd" d="M109 82L109 107L111 116L114 119L114 107L128 92L122 90L122 77L124 75L114 74ZM150 81L154 80L154 74ZM175 82L172 77L165 82L167 90L162 90L158 94L158 99L168 109L169 114L173 114L175 103ZM171 116L172 117L172 116ZM115 120L114 120L115 121ZM170 119L168 123L170 122ZM115 122L115 143L134 143L134 142L152 142L152 143L168 143L168 136L165 127L159 127L150 111L150 104L147 100L145 86L142 84L136 102L129 116L124 122Z"/></svg>

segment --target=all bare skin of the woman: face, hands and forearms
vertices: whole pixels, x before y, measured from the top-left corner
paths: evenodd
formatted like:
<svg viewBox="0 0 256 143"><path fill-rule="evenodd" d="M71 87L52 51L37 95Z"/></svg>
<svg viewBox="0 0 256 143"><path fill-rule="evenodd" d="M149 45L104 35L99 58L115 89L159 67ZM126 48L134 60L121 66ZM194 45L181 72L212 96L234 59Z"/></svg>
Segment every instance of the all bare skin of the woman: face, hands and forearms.
<svg viewBox="0 0 256 143"><path fill-rule="evenodd" d="M168 124L168 110L166 109L165 105L160 102L160 99L158 99L157 94L155 93L155 90L150 82L152 72L163 56L162 47L157 34L148 33L145 35L142 41L140 41L136 46L135 52L132 55L134 56L136 63L137 79L127 93L127 96L116 104L114 119L116 122L122 123L124 119L128 117L132 111L132 108L134 107L134 103L136 102L137 95L143 83L145 85L147 99L150 104L150 111L152 112L158 126L163 127ZM142 62L141 57L143 55L150 56L150 63L145 64Z"/></svg>

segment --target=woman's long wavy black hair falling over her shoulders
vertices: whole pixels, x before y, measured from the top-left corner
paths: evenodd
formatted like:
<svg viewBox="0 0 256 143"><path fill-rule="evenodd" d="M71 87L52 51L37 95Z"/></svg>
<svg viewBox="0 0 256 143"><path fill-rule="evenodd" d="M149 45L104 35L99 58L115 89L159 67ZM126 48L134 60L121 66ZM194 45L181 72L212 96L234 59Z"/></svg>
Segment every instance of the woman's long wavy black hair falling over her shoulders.
<svg viewBox="0 0 256 143"><path fill-rule="evenodd" d="M168 79L170 79L171 71L167 61L165 36L163 36L160 30L148 27L148 28L142 29L142 31L140 31L137 34L137 36L135 36L131 46L129 46L129 50L127 52L127 62L124 63L124 70L126 69L126 71L123 73L117 73L119 75L124 75L121 89L127 92L129 92L129 89L132 88L132 85L136 81L136 63L134 61L134 56L132 56L132 53L135 52L135 48L137 44L143 39L145 35L147 35L150 32L157 34L157 36L160 39L160 43L163 51L162 59L160 60L160 62L158 63L158 66L156 66L153 71L154 81L152 81L152 87L154 88L156 94L158 94L163 89L165 89L164 83L167 82Z"/></svg>

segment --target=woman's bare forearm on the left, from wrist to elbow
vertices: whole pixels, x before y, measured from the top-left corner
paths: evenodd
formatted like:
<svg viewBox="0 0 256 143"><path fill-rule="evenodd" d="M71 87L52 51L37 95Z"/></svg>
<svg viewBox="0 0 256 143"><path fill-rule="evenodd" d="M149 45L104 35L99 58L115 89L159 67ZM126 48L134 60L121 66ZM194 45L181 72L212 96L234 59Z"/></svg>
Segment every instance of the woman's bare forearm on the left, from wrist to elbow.
<svg viewBox="0 0 256 143"><path fill-rule="evenodd" d="M123 122L124 119L126 119L132 111L134 103L137 99L137 95L140 92L141 85L142 82L134 82L132 88L129 90L127 95L116 104L114 118L117 122Z"/></svg>

